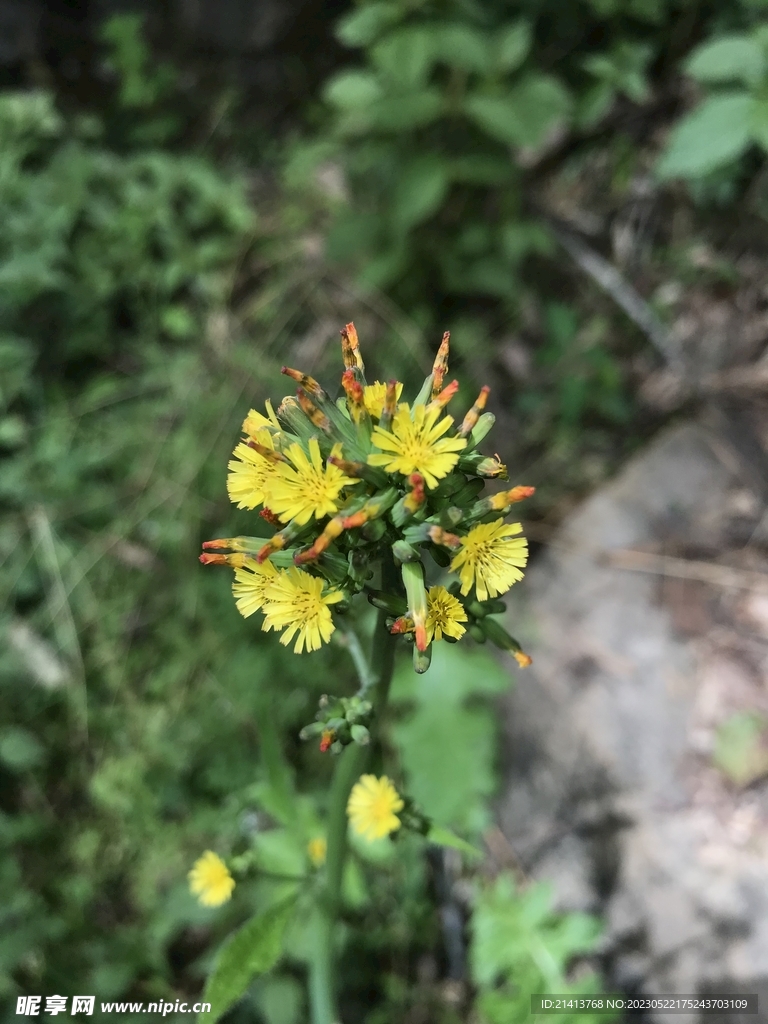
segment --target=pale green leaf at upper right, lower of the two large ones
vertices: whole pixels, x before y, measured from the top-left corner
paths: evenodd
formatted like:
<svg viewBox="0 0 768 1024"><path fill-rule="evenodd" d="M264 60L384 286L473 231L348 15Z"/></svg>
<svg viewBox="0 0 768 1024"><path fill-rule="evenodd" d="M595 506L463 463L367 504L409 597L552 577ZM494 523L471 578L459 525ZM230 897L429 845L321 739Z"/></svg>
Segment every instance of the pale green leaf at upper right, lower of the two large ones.
<svg viewBox="0 0 768 1024"><path fill-rule="evenodd" d="M699 177L750 144L754 100L748 92L712 96L677 125L656 165L660 178Z"/></svg>

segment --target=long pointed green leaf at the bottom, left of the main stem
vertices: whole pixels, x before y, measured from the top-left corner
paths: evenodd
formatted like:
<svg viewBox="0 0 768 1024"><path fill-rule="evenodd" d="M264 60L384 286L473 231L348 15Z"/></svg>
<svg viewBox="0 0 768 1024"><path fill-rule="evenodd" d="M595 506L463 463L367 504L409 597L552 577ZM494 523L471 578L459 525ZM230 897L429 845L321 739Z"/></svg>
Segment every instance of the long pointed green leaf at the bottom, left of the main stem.
<svg viewBox="0 0 768 1024"><path fill-rule="evenodd" d="M283 952L283 937L295 900L257 913L224 943L206 982L203 1000L211 1004L205 1020L215 1022L245 994L260 974L271 971Z"/></svg>

